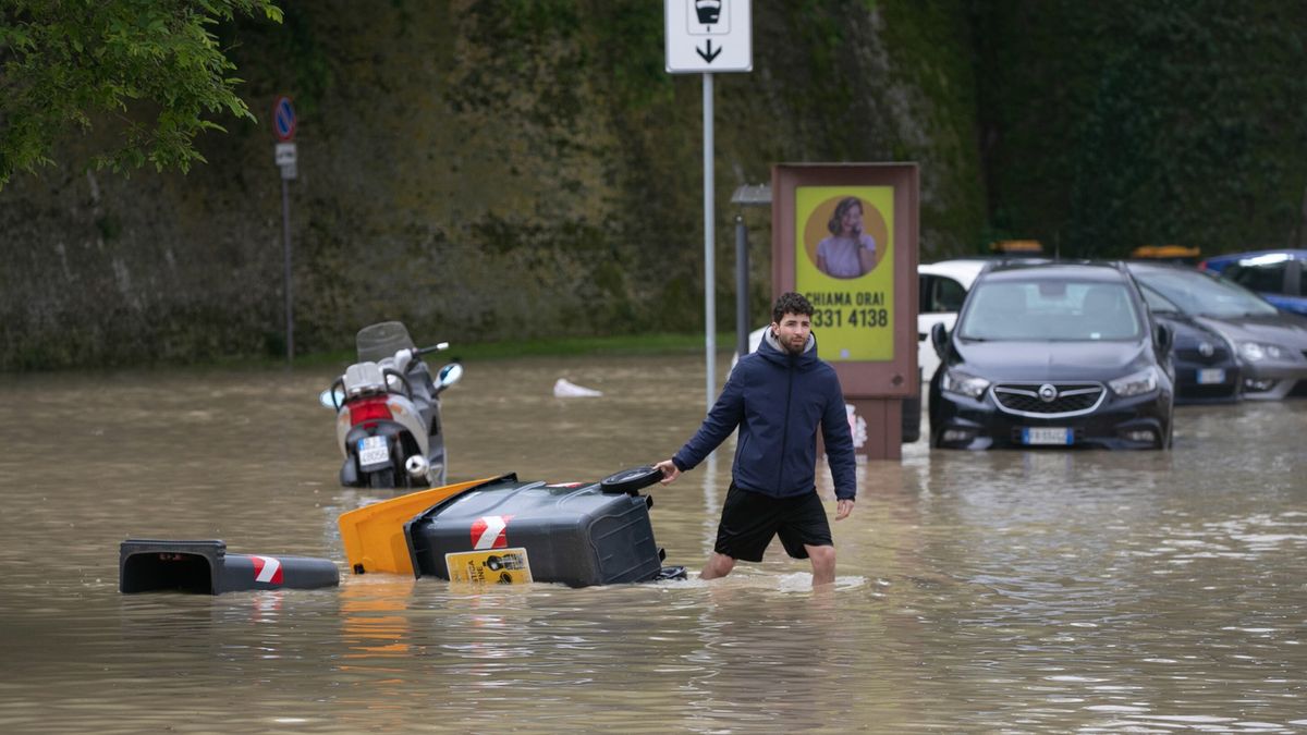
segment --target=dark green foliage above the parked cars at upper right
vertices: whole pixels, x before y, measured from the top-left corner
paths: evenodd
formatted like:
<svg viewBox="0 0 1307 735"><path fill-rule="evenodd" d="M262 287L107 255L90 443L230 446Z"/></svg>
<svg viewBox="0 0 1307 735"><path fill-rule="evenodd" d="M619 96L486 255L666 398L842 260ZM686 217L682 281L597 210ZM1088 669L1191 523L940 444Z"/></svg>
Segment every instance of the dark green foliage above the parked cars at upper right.
<svg viewBox="0 0 1307 735"><path fill-rule="evenodd" d="M1300 242L1302 4L974 8L995 229L1086 258Z"/></svg>

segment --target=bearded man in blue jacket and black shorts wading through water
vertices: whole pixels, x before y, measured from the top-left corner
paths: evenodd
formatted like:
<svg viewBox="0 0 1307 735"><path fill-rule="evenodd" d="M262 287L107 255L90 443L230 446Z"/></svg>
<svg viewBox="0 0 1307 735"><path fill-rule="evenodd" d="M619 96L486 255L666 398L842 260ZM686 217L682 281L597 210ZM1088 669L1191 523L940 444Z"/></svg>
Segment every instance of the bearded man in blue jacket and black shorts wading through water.
<svg viewBox="0 0 1307 735"><path fill-rule="evenodd" d="M835 581L835 547L817 497L818 424L835 480L835 521L853 511L856 463L844 394L834 368L817 358L812 314L801 294L782 294L762 344L736 364L703 425L655 466L665 485L740 428L718 541L701 579L725 577L737 560L762 561L779 535L791 557L812 560L814 587Z"/></svg>

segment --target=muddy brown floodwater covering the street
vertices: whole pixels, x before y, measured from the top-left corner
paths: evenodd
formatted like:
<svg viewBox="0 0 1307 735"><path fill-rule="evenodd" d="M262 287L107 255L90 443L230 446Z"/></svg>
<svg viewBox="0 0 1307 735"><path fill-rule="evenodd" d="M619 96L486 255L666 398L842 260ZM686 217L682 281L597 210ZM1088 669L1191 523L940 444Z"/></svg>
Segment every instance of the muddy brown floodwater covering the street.
<svg viewBox="0 0 1307 735"><path fill-rule="evenodd" d="M702 369L469 364L450 479L664 459ZM1168 453L908 445L859 468L817 595L779 544L695 578L728 443L650 492L687 581L478 589L349 574L336 518L393 494L339 487L333 377L4 381L0 731L1307 731L1307 402L1178 408ZM558 378L604 396L555 399ZM122 595L128 538L325 557L341 585Z"/></svg>

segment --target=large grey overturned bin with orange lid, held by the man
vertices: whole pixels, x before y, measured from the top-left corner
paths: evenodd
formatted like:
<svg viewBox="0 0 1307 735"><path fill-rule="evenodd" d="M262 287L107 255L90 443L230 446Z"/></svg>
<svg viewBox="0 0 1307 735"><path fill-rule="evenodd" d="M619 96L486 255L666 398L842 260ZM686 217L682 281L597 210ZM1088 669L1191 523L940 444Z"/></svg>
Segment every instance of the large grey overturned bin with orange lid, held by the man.
<svg viewBox="0 0 1307 735"><path fill-rule="evenodd" d="M600 483L523 481L510 473L459 485L416 514L406 501L396 506L409 511L403 522L376 506L346 513L341 535L356 573L571 587L684 578L684 568L663 566L665 555L650 523L654 501L639 494L659 477L651 467ZM356 521L378 518L384 521L358 532ZM397 558L401 540L406 560ZM389 561L378 564L380 558Z"/></svg>

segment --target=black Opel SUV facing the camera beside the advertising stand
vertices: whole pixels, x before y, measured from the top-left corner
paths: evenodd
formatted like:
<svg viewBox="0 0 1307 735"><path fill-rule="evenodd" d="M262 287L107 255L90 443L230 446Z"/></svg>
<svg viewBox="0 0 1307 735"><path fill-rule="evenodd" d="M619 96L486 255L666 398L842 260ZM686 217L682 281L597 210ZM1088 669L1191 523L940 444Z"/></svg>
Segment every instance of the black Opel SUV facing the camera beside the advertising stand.
<svg viewBox="0 0 1307 735"><path fill-rule="evenodd" d="M991 265L931 336L932 446L1171 446L1171 331L1123 264Z"/></svg>

